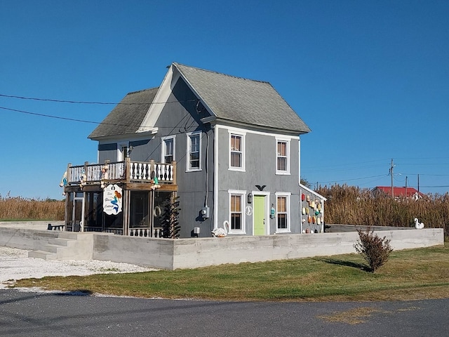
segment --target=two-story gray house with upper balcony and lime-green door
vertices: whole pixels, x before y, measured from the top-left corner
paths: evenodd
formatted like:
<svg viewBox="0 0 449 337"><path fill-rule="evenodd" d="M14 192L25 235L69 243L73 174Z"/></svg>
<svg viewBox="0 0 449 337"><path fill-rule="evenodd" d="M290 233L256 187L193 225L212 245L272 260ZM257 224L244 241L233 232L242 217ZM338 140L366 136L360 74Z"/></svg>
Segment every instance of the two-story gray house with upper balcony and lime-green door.
<svg viewBox="0 0 449 337"><path fill-rule="evenodd" d="M268 82L173 63L91 133L98 164L69 165L67 230L158 237L177 196L180 237L313 232L324 199L300 185L309 131Z"/></svg>

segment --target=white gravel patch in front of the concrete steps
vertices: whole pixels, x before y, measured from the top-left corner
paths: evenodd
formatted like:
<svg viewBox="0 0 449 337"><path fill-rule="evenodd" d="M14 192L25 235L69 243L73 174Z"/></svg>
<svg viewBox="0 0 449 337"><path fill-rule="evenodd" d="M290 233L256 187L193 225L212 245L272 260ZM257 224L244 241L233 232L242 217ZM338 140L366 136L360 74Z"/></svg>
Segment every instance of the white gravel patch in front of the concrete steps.
<svg viewBox="0 0 449 337"><path fill-rule="evenodd" d="M83 276L125 272L149 272L149 267L100 260L43 260L29 258L28 251L0 247L0 289L15 284L18 279L45 276Z"/></svg>

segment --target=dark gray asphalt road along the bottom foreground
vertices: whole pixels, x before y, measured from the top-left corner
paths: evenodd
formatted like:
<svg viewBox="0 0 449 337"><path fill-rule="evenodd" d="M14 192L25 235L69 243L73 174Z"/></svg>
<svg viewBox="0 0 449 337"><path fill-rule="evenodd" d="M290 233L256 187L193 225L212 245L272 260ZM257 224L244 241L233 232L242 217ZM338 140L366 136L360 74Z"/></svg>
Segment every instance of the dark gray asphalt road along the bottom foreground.
<svg viewBox="0 0 449 337"><path fill-rule="evenodd" d="M227 303L0 290L0 336L449 336L449 299Z"/></svg>

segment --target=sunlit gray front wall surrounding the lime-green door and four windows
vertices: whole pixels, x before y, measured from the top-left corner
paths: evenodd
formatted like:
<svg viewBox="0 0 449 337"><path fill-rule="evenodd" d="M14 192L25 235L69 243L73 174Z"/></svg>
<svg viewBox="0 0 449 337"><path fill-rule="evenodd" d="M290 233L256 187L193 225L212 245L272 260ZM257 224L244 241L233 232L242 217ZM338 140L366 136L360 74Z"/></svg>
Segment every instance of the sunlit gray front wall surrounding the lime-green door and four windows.
<svg viewBox="0 0 449 337"><path fill-rule="evenodd" d="M289 221L290 232L300 232L300 188L299 188L299 138L290 138L289 164L290 174L276 174L276 135L242 131L245 136L245 171L229 169L229 130L225 127L217 128L218 161L217 187L218 205L217 225L222 227L225 220L229 220L229 190L246 191L244 206L252 206L247 202L250 192L257 193L256 185L266 185L263 192L269 192L269 205L276 209L276 192L290 194ZM239 130L231 131L239 134ZM279 137L282 137L281 135ZM253 234L253 215L244 215L246 235ZM277 232L276 219L266 218L269 224L269 234Z"/></svg>

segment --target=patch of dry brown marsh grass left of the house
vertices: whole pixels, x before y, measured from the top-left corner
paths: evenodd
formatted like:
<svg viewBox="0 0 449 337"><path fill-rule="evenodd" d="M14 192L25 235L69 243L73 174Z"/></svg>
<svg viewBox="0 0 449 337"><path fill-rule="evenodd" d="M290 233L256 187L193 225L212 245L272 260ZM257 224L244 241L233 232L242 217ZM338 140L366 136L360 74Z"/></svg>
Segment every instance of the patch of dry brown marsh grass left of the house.
<svg viewBox="0 0 449 337"><path fill-rule="evenodd" d="M64 201L1 197L0 220L64 220Z"/></svg>

